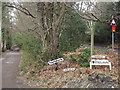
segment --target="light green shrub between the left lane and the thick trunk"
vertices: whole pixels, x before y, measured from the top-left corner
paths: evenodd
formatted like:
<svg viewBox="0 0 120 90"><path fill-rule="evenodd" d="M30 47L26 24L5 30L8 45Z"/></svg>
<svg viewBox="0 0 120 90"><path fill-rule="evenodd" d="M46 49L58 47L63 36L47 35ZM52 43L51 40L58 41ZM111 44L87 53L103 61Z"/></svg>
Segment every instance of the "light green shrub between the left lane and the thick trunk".
<svg viewBox="0 0 120 90"><path fill-rule="evenodd" d="M27 72L30 69L30 64L38 68L44 65L40 58L41 41L34 33L15 34L14 40L16 44L22 49L22 62L20 64L21 70Z"/></svg>

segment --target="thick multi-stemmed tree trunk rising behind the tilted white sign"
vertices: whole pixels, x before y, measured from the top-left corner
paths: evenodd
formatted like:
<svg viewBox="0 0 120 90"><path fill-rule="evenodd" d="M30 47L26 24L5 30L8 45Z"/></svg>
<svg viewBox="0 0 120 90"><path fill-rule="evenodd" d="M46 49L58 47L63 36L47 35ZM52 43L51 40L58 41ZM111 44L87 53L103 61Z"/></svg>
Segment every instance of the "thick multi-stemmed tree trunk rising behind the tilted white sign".
<svg viewBox="0 0 120 90"><path fill-rule="evenodd" d="M59 26L64 15L65 6L61 4L61 9L57 10L57 16L55 14L54 2L52 3L38 3L38 20L39 20L39 31L42 41L42 53L41 58L44 61L49 61L58 58L59 51ZM58 13L59 12L59 13Z"/></svg>

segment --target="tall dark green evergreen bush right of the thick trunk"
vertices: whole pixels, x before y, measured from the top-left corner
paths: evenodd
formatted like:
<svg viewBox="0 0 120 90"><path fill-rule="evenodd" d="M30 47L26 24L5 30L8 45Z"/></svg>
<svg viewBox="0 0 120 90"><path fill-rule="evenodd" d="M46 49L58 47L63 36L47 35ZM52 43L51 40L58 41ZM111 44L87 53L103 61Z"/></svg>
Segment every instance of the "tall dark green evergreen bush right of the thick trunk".
<svg viewBox="0 0 120 90"><path fill-rule="evenodd" d="M85 22L73 10L66 12L60 28L60 50L74 51L86 39L87 30Z"/></svg>

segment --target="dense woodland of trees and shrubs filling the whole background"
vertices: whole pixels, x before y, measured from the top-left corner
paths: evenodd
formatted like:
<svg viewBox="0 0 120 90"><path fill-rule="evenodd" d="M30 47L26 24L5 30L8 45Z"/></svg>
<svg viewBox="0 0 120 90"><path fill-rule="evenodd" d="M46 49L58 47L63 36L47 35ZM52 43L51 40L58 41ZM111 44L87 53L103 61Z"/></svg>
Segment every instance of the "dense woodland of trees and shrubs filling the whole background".
<svg viewBox="0 0 120 90"><path fill-rule="evenodd" d="M17 45L23 53L21 68L30 63L43 66L90 43L91 28L95 43L111 44L112 16L119 41L120 2L4 2L2 51Z"/></svg>

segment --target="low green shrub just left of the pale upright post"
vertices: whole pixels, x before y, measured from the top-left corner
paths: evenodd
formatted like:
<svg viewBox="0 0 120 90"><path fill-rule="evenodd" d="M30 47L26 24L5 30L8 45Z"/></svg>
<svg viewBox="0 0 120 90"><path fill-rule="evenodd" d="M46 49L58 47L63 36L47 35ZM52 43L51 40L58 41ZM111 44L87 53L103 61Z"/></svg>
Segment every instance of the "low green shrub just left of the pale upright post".
<svg viewBox="0 0 120 90"><path fill-rule="evenodd" d="M87 47L81 47L83 48L80 51L80 55L70 55L70 58L73 62L77 62L80 64L80 66L89 66L88 59L90 57L90 49Z"/></svg>

